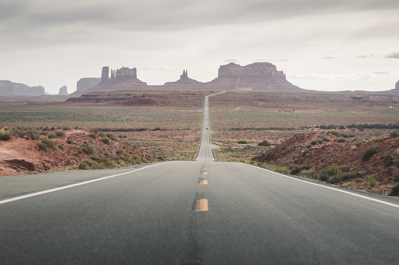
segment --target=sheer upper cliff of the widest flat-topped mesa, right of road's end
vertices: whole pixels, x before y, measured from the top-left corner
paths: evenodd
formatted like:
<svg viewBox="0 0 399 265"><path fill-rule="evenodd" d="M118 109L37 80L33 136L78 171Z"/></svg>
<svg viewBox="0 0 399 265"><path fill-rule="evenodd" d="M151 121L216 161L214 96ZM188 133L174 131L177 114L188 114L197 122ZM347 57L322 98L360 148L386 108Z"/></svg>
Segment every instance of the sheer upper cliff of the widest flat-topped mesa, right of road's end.
<svg viewBox="0 0 399 265"><path fill-rule="evenodd" d="M275 77L285 79L285 74L282 71L277 71L276 66L270 62L254 62L246 66L231 62L219 67L217 77Z"/></svg>

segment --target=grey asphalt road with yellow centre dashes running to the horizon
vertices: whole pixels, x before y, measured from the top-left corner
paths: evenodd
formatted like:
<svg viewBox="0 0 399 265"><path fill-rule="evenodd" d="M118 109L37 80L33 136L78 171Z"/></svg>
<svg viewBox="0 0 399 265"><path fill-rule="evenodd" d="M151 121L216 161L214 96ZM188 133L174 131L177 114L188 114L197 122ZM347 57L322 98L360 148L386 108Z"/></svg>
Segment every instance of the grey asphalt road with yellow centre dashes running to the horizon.
<svg viewBox="0 0 399 265"><path fill-rule="evenodd" d="M0 178L0 263L398 263L397 199L213 162L206 128L198 161Z"/></svg>

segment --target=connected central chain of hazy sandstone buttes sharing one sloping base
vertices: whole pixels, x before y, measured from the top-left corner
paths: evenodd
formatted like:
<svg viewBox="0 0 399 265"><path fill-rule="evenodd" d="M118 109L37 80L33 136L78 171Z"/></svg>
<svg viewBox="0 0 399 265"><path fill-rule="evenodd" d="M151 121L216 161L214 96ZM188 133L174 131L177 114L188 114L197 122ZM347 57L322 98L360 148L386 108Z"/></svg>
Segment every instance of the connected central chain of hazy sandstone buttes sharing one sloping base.
<svg viewBox="0 0 399 265"><path fill-rule="evenodd" d="M183 70L180 79L167 82L164 85L149 86L137 78L136 68L122 67L117 70L104 66L101 72L101 82L85 91L72 94L87 94L120 89L154 89L154 90L237 90L237 91L279 91L279 92L307 92L294 86L286 80L282 71L277 71L270 62L255 62L241 66L233 62L221 65L218 76L210 82L199 82L188 77L188 71ZM84 93L83 93L84 92Z"/></svg>

